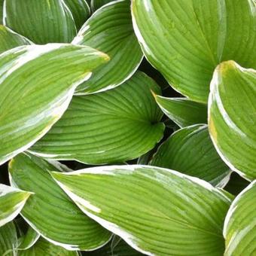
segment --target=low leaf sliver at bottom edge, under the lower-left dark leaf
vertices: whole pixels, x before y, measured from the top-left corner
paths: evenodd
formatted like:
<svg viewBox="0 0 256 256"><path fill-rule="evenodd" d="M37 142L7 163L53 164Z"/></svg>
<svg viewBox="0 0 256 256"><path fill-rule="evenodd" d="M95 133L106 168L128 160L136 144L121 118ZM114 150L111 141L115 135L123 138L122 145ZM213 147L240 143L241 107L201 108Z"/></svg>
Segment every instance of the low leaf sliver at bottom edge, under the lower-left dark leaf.
<svg viewBox="0 0 256 256"><path fill-rule="evenodd" d="M77 256L77 251L67 251L66 249L53 245L47 240L40 238L32 248L26 251L21 251L19 256Z"/></svg>

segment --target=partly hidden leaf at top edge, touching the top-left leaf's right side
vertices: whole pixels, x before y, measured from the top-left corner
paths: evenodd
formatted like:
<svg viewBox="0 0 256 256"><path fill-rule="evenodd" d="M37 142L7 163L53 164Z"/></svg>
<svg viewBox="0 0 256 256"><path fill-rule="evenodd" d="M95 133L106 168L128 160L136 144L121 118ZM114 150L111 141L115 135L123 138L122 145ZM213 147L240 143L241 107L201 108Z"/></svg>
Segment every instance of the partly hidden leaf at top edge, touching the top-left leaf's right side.
<svg viewBox="0 0 256 256"><path fill-rule="evenodd" d="M72 12L77 29L80 29L90 16L89 5L87 4L86 0L64 0L64 2Z"/></svg>

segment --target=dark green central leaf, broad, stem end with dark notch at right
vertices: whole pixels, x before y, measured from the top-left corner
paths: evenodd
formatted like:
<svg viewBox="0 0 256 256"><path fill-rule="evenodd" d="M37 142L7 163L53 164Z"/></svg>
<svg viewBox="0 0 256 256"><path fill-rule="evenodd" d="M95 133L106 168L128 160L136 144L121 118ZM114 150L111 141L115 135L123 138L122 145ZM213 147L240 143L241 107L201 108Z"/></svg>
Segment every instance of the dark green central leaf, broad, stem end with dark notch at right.
<svg viewBox="0 0 256 256"><path fill-rule="evenodd" d="M154 148L163 137L162 113L142 72L103 93L75 96L63 117L29 149L32 154L82 163L120 163Z"/></svg>

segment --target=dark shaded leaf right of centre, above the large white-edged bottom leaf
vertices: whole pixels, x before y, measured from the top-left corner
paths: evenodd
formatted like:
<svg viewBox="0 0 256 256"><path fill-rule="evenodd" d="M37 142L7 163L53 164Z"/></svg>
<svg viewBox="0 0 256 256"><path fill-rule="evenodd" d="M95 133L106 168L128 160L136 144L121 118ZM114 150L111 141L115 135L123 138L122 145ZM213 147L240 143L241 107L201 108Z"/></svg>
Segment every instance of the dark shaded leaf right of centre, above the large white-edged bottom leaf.
<svg viewBox="0 0 256 256"><path fill-rule="evenodd" d="M188 126L173 133L160 145L151 165L174 169L221 187L230 175L212 145L206 125Z"/></svg>

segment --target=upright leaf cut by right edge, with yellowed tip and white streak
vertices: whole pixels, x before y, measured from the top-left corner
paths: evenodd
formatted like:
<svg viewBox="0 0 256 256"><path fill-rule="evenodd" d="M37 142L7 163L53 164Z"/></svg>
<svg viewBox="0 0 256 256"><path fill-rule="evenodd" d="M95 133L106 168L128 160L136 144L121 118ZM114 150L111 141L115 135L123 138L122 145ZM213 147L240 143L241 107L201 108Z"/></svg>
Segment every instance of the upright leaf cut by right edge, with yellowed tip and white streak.
<svg viewBox="0 0 256 256"><path fill-rule="evenodd" d="M222 159L244 178L256 178L256 72L223 62L212 79L209 132Z"/></svg>

